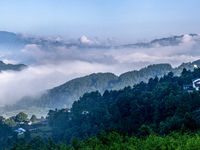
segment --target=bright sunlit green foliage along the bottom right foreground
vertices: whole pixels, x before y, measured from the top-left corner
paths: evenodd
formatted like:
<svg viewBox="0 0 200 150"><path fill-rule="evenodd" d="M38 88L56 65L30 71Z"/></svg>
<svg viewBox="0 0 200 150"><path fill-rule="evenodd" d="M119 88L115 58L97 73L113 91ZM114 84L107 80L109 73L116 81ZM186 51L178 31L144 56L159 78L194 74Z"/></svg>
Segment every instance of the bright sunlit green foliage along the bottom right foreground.
<svg viewBox="0 0 200 150"><path fill-rule="evenodd" d="M122 149L145 149L145 150L187 150L199 149L200 136L198 134L180 134L173 132L167 136L158 136L151 133L147 138L136 138L135 136L127 137L115 132L101 135L100 137L90 137L81 143L79 149L95 150L122 150ZM73 145L71 148L75 148Z"/></svg>

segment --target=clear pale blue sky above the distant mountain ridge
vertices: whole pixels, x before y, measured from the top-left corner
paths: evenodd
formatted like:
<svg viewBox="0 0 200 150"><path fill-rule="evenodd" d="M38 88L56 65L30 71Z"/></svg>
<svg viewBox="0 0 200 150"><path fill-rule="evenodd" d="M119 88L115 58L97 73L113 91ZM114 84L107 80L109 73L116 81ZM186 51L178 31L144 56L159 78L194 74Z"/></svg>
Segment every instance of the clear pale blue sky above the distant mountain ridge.
<svg viewBox="0 0 200 150"><path fill-rule="evenodd" d="M199 0L1 0L0 30L122 43L199 33Z"/></svg>

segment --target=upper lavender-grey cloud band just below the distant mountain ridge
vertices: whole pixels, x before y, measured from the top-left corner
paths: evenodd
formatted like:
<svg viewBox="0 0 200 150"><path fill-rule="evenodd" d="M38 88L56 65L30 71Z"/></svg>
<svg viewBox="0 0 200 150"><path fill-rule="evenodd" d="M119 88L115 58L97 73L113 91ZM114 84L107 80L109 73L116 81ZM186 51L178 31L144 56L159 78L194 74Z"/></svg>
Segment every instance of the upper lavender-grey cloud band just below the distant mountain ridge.
<svg viewBox="0 0 200 150"><path fill-rule="evenodd" d="M177 40L177 39L176 39ZM92 44L93 41L83 36L82 42ZM42 47L36 44L28 44L21 51L33 59L36 64L57 64L62 61L82 61L89 63L130 66L129 70L133 70L131 66L140 62L150 63L174 63L193 61L200 56L200 37L184 35L176 46L161 46L158 43L152 48L121 48L121 49L78 49L65 46L46 46ZM181 56L181 57L180 57ZM183 59L184 57L184 59ZM174 65L172 64L172 65ZM140 68L139 65L137 67ZM127 70L128 71L128 70ZM119 72L119 71L116 71Z"/></svg>

